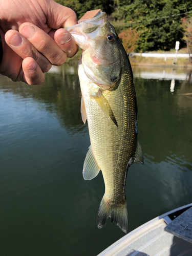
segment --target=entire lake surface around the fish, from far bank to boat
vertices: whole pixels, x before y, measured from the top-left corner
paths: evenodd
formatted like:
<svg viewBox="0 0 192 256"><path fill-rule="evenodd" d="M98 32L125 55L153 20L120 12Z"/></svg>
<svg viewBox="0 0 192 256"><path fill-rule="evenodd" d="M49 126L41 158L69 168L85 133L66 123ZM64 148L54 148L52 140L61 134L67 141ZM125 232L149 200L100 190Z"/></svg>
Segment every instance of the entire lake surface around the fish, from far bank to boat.
<svg viewBox="0 0 192 256"><path fill-rule="evenodd" d="M126 182L129 231L192 202L192 76L133 68L144 165ZM53 67L40 86L0 76L2 256L97 255L124 236L96 226L102 174L84 181L90 146L80 114L77 67Z"/></svg>

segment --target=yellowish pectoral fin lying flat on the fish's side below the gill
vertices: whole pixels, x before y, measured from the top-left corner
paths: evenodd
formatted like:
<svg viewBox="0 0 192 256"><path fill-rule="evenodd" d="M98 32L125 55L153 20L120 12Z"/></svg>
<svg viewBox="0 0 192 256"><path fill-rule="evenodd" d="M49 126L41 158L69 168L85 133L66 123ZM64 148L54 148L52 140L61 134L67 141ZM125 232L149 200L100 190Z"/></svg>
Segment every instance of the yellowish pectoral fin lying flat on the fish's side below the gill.
<svg viewBox="0 0 192 256"><path fill-rule="evenodd" d="M97 104L100 106L106 118L108 118L108 121L110 122L110 118L111 118L112 121L115 123L115 125L117 125L118 127L118 124L113 114L113 111L111 109L111 106L109 102L106 100L106 98L103 96L102 92L98 90L98 92L96 94L92 94L92 96L96 100Z"/></svg>

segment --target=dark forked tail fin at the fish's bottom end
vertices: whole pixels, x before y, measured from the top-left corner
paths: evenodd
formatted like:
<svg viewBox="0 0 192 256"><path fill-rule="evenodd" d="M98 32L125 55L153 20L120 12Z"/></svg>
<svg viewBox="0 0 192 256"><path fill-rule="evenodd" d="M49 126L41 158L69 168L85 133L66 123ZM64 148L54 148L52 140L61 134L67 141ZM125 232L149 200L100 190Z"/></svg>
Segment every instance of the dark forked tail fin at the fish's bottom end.
<svg viewBox="0 0 192 256"><path fill-rule="evenodd" d="M97 227L104 227L109 217L123 232L128 232L129 221L126 199L123 204L114 205L109 199L106 200L105 196L103 196L97 214Z"/></svg>

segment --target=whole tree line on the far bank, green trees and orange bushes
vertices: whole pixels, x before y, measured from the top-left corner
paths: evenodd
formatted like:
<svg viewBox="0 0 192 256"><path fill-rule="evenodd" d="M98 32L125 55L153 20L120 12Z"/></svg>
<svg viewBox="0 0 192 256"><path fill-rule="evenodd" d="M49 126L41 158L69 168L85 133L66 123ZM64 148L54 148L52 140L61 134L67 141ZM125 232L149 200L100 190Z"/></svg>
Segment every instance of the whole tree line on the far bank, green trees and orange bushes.
<svg viewBox="0 0 192 256"><path fill-rule="evenodd" d="M127 52L192 51L191 0L55 0L75 11L79 19L89 10L101 9L116 28Z"/></svg>

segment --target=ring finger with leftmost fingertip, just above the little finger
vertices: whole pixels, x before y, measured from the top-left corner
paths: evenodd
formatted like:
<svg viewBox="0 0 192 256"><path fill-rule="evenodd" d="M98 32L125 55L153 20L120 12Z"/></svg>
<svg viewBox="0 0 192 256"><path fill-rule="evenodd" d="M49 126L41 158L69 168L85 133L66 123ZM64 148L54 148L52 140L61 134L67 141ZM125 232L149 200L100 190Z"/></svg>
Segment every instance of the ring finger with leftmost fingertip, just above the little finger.
<svg viewBox="0 0 192 256"><path fill-rule="evenodd" d="M34 46L22 34L16 30L9 30L5 34L7 45L23 59L32 57L39 65L42 72L47 72L51 68L50 61L40 54Z"/></svg>

